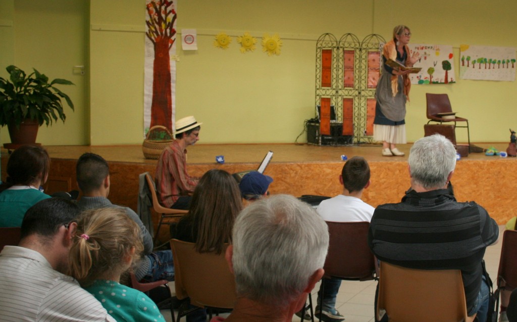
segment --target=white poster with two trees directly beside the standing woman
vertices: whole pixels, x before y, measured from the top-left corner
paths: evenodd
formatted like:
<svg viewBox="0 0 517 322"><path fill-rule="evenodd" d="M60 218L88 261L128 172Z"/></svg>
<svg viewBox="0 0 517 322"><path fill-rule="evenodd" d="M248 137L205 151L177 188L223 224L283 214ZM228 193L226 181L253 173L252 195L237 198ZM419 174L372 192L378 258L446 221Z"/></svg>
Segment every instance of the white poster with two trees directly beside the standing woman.
<svg viewBox="0 0 517 322"><path fill-rule="evenodd" d="M409 74L412 84L450 84L456 82L454 75L454 54L451 45L413 44L409 47L409 56L420 53L420 59L413 67L421 67L417 74Z"/></svg>

